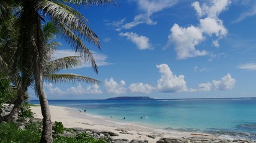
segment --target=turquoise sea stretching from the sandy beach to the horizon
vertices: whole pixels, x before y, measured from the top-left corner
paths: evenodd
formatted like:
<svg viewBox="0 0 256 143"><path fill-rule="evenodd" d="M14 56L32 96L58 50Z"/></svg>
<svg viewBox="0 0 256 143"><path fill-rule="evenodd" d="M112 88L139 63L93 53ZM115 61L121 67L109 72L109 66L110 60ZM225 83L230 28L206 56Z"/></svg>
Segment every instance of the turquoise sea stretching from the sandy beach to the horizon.
<svg viewBox="0 0 256 143"><path fill-rule="evenodd" d="M87 114L114 122L256 140L256 98L49 100L49 105L86 109Z"/></svg>

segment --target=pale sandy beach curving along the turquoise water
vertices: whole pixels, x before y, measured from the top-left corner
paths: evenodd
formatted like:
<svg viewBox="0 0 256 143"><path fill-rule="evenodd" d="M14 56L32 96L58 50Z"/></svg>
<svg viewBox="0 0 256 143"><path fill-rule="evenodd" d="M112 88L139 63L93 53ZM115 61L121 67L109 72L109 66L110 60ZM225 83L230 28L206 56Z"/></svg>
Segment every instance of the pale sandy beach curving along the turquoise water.
<svg viewBox="0 0 256 143"><path fill-rule="evenodd" d="M35 117L43 118L41 116L41 108L31 107L32 111L35 113ZM111 131L118 133L119 136L113 136L115 139L146 139L150 143L158 141L160 138L188 138L192 136L204 136L207 138L217 138L212 135L200 135L189 132L177 132L166 130L158 130L153 128L148 128L144 126L132 125L129 123L117 123L109 120L104 120L101 117L90 116L86 113L79 113L72 108L58 107L50 105L50 112L52 116L52 122L58 121L62 122L65 128L84 128L84 129L95 129L101 131ZM124 132L125 130L125 132Z"/></svg>

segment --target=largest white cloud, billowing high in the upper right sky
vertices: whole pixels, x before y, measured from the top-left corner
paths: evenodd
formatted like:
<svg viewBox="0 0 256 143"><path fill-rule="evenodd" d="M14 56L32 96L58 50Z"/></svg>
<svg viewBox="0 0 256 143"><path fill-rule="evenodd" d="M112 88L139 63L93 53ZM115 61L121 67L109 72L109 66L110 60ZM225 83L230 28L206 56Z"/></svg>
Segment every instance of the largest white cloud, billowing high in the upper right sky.
<svg viewBox="0 0 256 143"><path fill-rule="evenodd" d="M218 15L227 10L230 3L230 0L211 0L208 3L204 2L202 5L198 1L193 2L192 7L194 7L200 18L199 25L185 28L174 24L170 29L171 33L168 36L166 48L173 43L178 60L208 55L209 52L198 51L195 46L205 41L208 37L212 37L212 35L216 36L216 39L212 40L213 46L219 46L219 40L226 36L228 31L222 20L218 18Z"/></svg>

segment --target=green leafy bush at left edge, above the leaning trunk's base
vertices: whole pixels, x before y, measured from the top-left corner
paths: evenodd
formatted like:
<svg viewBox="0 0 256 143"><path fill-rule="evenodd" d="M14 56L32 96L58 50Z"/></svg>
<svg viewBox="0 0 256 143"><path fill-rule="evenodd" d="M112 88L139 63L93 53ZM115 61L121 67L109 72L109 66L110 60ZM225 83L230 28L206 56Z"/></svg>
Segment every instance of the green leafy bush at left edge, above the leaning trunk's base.
<svg viewBox="0 0 256 143"><path fill-rule="evenodd" d="M0 72L0 108L3 103L7 102L9 96L11 96L10 80Z"/></svg>

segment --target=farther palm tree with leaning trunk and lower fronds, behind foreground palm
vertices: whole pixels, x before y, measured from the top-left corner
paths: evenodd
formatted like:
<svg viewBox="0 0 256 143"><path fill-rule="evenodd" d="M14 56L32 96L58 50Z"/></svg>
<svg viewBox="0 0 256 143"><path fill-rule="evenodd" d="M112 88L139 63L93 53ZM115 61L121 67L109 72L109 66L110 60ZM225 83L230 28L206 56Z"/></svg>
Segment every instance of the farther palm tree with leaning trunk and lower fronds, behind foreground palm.
<svg viewBox="0 0 256 143"><path fill-rule="evenodd" d="M56 27L53 25L52 22L46 23L43 26L43 33L45 36L45 39L47 41L47 50L49 51L49 60L50 57L52 55L52 52L55 51L56 47L60 44L59 42L55 42L53 41L54 39L56 39L55 34L58 33L58 29L56 29ZM0 51L1 51L1 46L0 46ZM6 51L2 50L2 54L4 54ZM0 54L0 56L2 55ZM10 58L8 57L8 59L6 59L7 57L5 57L5 61L10 61ZM14 58L14 57L13 57ZM79 64L81 64L80 62L81 58L79 56L70 56L70 57L64 57L64 58L59 58L53 61L48 61L47 62L47 66L46 66L46 73L43 74L44 79L48 80L50 82L72 82L74 83L76 82L86 82L86 83L99 83L98 80L92 79L90 77L85 77L85 76L80 76L77 74L70 74L70 73L62 73L62 74L56 74L56 72L58 72L59 70L64 70L64 69L73 69L73 67L78 66ZM4 62L4 61L3 61ZM1 64L0 64L1 65ZM11 66L11 65L9 65ZM8 70L8 69L7 69ZM7 71L5 70L5 71ZM32 73L31 73L32 74ZM16 79L20 79L20 77L17 77ZM30 79L27 80L27 86L30 86L33 84L33 76L30 76ZM15 84L15 82L14 82ZM27 92L28 87L26 86L26 89L23 89L23 91ZM16 100L14 101L14 107L13 110L11 111L10 114L8 114L7 116L5 116L4 118L2 118L0 120L1 121L5 121L5 122L16 122L17 117L19 115L19 110L20 110L20 105L22 104L22 102L24 100L28 99L28 94L19 94L17 95Z"/></svg>

